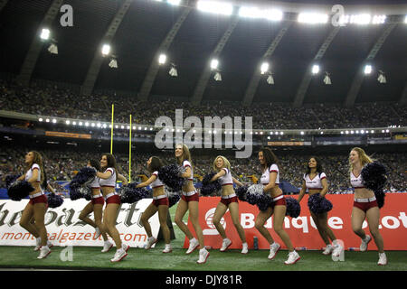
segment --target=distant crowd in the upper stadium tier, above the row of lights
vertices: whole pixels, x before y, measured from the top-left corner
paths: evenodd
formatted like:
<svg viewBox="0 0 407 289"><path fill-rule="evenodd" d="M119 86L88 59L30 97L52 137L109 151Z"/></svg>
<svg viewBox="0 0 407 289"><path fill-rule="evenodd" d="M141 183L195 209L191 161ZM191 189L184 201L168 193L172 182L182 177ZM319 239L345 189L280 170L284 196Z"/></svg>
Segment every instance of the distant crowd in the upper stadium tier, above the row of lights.
<svg viewBox="0 0 407 289"><path fill-rule="evenodd" d="M160 116L175 120L175 108L183 109L183 117L253 117L255 129L364 128L407 126L405 107L397 104L364 103L355 107L318 104L312 107L290 107L289 104L205 103L193 107L188 102L148 100L126 96L81 96L57 86L20 87L13 81L0 80L0 109L49 117L70 117L108 121L111 104L115 105L115 122L128 123L130 113L138 125L154 125ZM300 120L300 121L299 121Z"/></svg>

